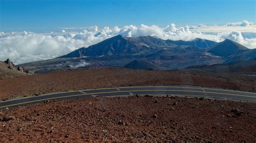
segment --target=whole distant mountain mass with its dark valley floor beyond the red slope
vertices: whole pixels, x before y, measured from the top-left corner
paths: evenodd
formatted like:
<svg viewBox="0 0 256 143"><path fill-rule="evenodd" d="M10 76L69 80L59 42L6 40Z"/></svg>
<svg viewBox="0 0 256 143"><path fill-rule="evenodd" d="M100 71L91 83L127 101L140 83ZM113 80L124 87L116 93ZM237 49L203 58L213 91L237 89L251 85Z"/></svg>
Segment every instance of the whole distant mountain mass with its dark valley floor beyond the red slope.
<svg viewBox="0 0 256 143"><path fill-rule="evenodd" d="M199 42L197 43L197 41ZM202 41L204 42L204 48L193 46L200 46ZM250 49L231 40L224 40L208 48L211 44L215 44L215 42L195 39L194 41L179 40L174 43L170 40L151 36L130 38L117 35L87 48L79 48L56 59L24 63L22 66L33 73L47 73L69 69L84 62L88 63L86 67L124 67L134 60L146 60L147 63L154 63L163 69L182 69L232 62L236 60L236 57L238 57L237 60L247 60L254 57L253 52L244 54L245 51L250 51ZM228 56L217 56L210 53L217 46L220 49L227 48L224 55L227 54Z"/></svg>

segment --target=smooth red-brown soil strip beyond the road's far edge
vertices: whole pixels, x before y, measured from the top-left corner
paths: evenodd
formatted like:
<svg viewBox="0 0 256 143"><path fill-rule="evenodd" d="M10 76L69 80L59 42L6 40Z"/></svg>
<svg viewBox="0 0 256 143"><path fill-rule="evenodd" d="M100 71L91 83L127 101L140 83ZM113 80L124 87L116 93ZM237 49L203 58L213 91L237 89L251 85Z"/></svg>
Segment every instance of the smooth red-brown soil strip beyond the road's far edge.
<svg viewBox="0 0 256 143"><path fill-rule="evenodd" d="M188 85L255 92L255 83L255 76L232 73L89 68L0 80L0 100L50 92L143 85Z"/></svg>

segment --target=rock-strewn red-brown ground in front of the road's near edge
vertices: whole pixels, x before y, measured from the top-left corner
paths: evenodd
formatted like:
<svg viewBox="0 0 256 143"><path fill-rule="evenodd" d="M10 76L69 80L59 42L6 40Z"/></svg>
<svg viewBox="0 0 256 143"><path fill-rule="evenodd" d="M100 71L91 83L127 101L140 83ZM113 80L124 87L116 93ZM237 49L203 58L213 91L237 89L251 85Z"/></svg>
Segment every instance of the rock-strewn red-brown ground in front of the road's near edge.
<svg viewBox="0 0 256 143"><path fill-rule="evenodd" d="M0 141L255 142L256 103L96 97L0 112Z"/></svg>

